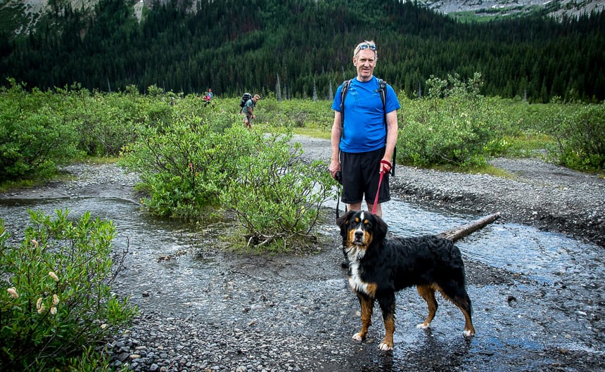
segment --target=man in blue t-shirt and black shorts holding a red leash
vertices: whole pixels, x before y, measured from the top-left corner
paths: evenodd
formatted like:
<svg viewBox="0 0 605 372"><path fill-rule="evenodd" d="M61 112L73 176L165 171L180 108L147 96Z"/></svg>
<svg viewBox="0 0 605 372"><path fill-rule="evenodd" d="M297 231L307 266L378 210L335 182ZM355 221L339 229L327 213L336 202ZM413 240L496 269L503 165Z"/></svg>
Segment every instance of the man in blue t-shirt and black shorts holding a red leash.
<svg viewBox="0 0 605 372"><path fill-rule="evenodd" d="M329 170L334 179L340 172L342 200L348 205L348 210L361 210L364 198L368 210L373 210L378 192L376 214L382 217L381 203L390 200L388 172L395 166L393 151L397 143L397 110L401 105L393 87L386 84L383 108L380 84L374 77L377 57L374 41L363 41L355 47L353 65L357 68L357 77L350 82L343 112L340 111L343 84L336 90L332 103L334 123ZM342 115L345 115L344 125L341 123ZM378 190L381 173L384 173L383 180Z"/></svg>

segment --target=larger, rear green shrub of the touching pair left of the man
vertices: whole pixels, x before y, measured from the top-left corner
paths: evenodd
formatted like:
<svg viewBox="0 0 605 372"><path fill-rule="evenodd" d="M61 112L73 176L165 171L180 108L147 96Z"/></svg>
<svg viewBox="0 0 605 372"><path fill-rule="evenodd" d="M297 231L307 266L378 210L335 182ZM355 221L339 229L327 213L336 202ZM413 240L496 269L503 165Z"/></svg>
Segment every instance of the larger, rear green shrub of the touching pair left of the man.
<svg viewBox="0 0 605 372"><path fill-rule="evenodd" d="M203 207L217 205L238 158L252 151L243 126L221 127L210 114L175 117L170 127L147 129L126 148L120 164L140 175L137 187L148 194L143 201L151 212L197 219Z"/></svg>

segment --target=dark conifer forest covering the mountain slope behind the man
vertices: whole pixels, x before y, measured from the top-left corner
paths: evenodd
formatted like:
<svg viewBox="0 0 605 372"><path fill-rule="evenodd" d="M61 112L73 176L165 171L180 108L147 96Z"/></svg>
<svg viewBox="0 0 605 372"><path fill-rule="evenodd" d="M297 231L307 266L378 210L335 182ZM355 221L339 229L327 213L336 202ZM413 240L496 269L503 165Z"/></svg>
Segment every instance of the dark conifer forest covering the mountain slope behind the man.
<svg viewBox="0 0 605 372"><path fill-rule="evenodd" d="M479 72L488 96L605 98L605 12L461 23L397 0L172 0L146 6L139 23L132 1L101 0L92 12L53 4L36 32L0 37L3 82L331 99L355 75L352 48L373 39L376 75L409 97L431 76Z"/></svg>

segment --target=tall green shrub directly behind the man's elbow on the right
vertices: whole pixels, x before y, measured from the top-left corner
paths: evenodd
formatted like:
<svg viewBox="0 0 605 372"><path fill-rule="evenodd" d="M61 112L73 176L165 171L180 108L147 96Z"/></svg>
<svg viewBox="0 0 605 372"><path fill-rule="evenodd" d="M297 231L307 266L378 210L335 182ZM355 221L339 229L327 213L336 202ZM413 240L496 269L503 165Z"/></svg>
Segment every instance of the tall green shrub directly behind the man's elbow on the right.
<svg viewBox="0 0 605 372"><path fill-rule="evenodd" d="M485 165L485 148L502 121L478 94L480 75L463 84L457 76L427 81L427 98L402 102L397 161L407 165Z"/></svg>

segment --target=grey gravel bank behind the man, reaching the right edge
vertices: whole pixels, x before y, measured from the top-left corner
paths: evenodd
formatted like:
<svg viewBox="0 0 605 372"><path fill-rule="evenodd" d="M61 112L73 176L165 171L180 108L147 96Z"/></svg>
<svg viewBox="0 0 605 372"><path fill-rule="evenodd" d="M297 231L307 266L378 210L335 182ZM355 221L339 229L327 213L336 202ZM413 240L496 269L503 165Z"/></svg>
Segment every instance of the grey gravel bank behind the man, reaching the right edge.
<svg viewBox="0 0 605 372"><path fill-rule="evenodd" d="M321 139L297 136L310 158L329 160ZM535 158L495 158L508 177L439 172L397 165L391 193L433 207L479 214L499 212L503 222L567 233L605 246L605 174L577 172Z"/></svg>

